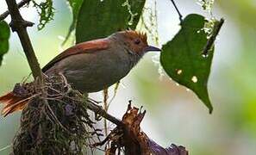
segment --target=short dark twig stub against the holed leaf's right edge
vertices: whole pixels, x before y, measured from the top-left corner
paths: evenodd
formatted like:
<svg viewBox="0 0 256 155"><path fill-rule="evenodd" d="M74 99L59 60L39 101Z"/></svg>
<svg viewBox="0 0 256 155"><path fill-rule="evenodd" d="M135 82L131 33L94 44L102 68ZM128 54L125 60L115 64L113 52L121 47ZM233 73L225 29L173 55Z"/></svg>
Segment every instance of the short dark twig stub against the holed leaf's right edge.
<svg viewBox="0 0 256 155"><path fill-rule="evenodd" d="M206 46L204 46L204 48L203 48L203 53L202 53L203 56L207 56L208 55L209 50L213 46L213 44L214 44L214 42L216 40L216 36L219 34L219 32L220 32L220 30L222 28L223 23L224 23L224 19L223 18L220 20L220 22L215 22L213 33L211 34L209 40L207 40Z"/></svg>

